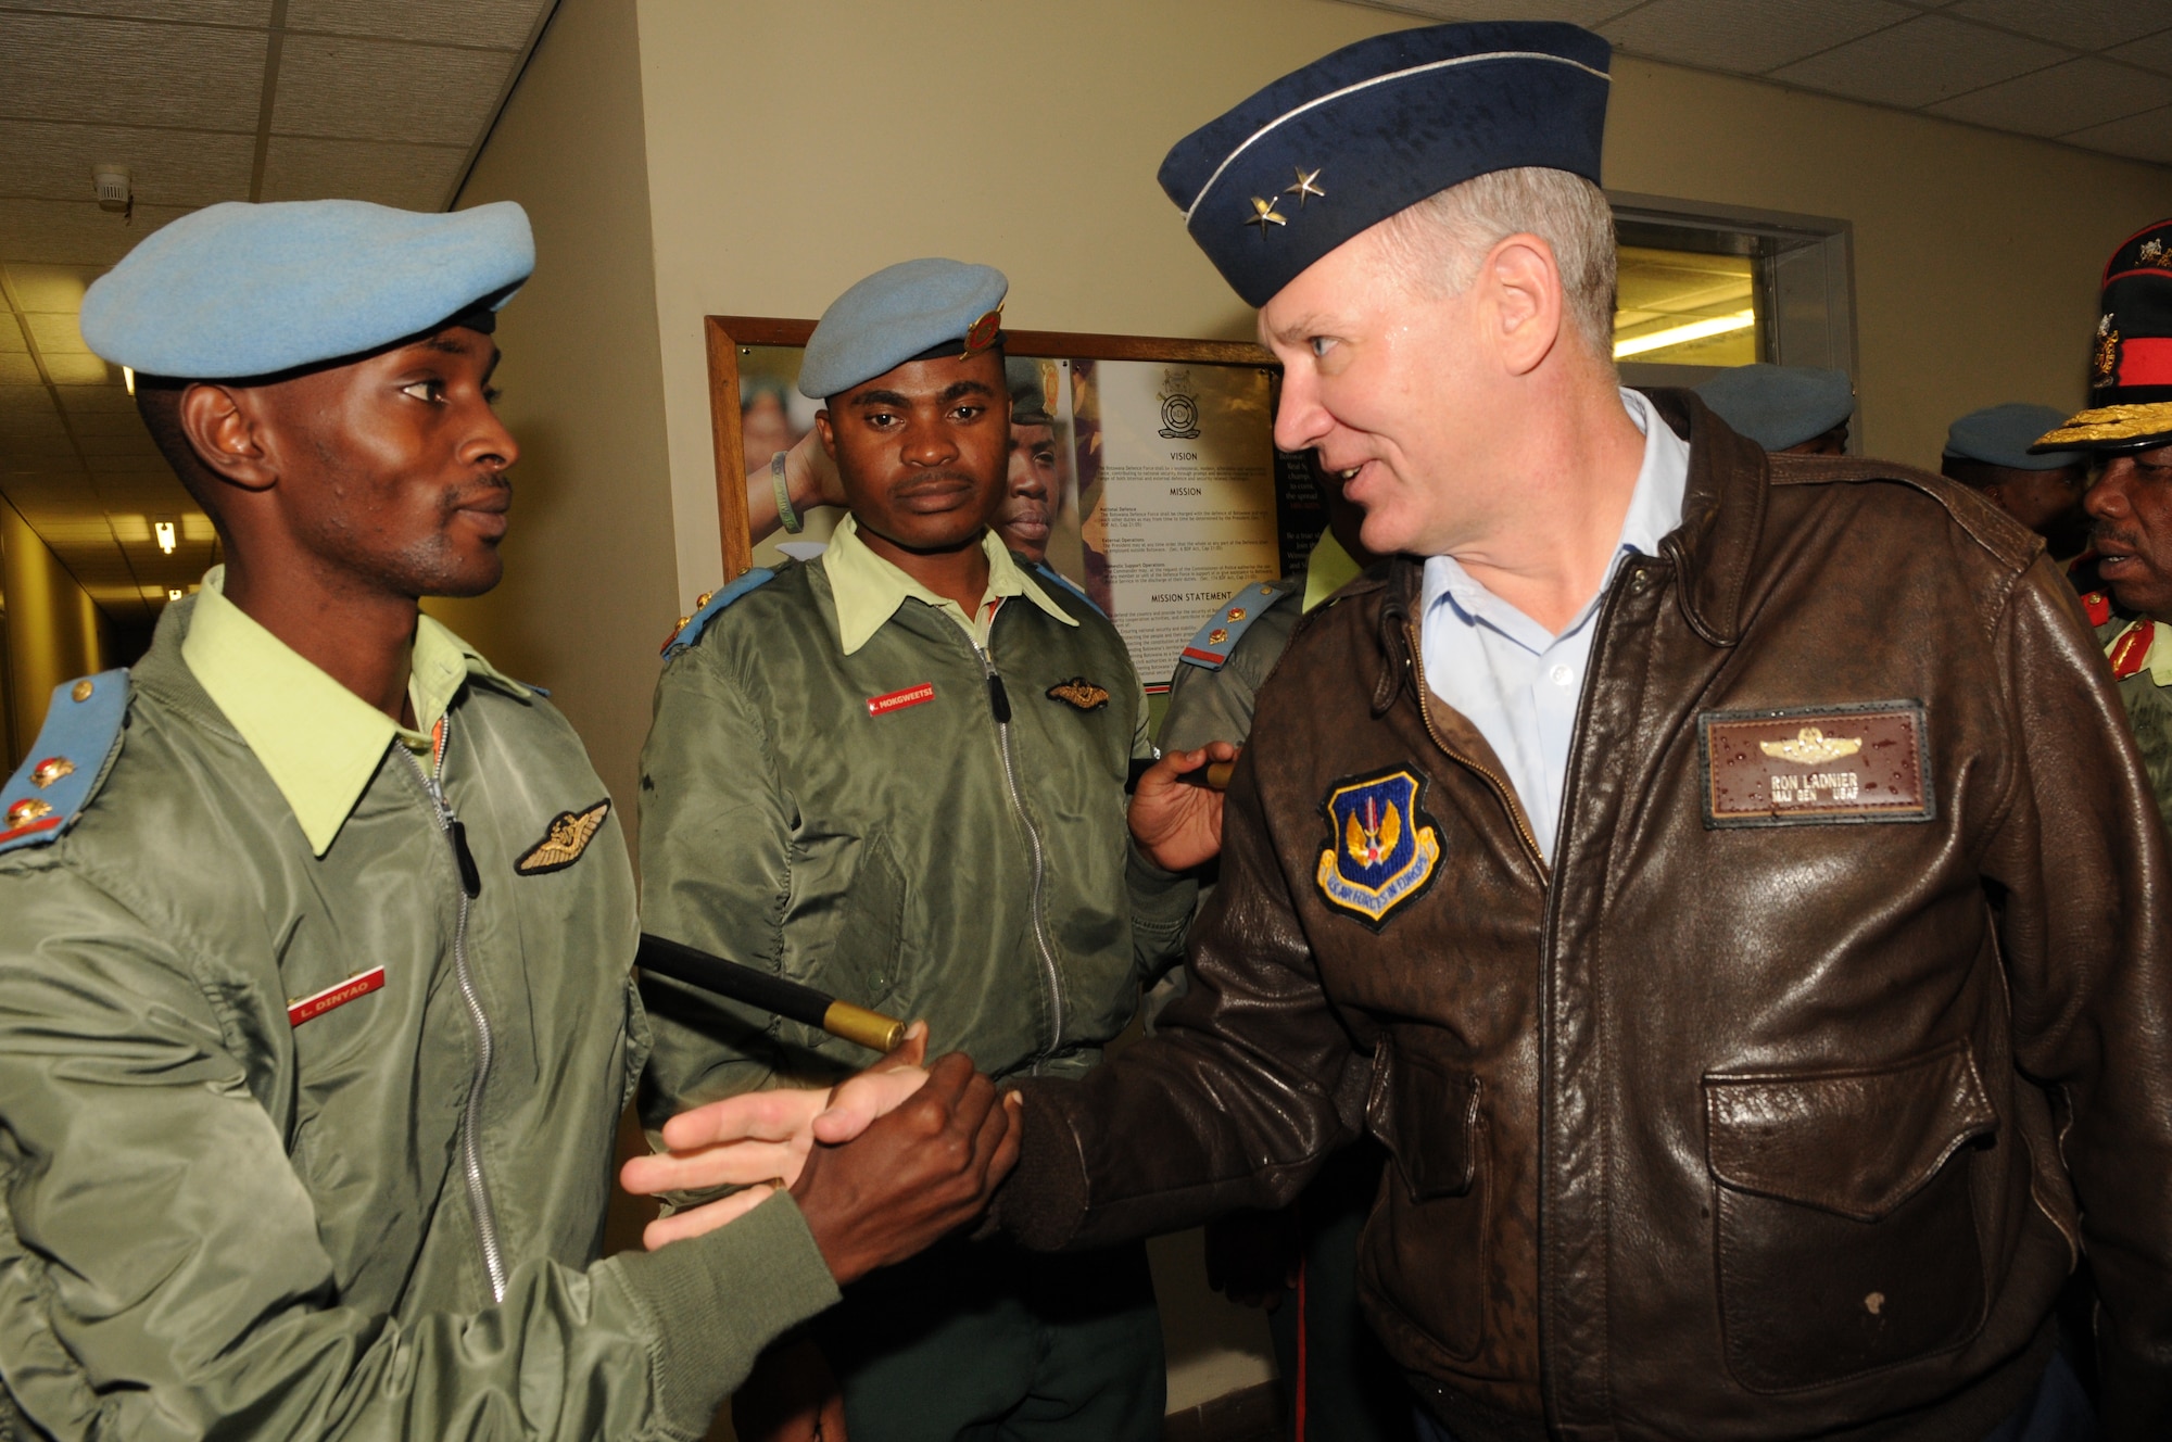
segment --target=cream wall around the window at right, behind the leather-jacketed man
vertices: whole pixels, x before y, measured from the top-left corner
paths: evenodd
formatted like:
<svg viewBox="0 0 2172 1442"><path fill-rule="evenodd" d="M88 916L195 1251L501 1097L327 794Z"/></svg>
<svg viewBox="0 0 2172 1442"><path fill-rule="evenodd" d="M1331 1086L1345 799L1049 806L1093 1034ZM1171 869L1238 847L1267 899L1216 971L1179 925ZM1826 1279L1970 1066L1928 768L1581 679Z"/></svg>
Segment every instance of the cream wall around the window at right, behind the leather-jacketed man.
<svg viewBox="0 0 2172 1442"><path fill-rule="evenodd" d="M2172 213L2172 169L1616 59L1605 182L1855 226L1859 434L1937 467L2007 400L2081 408L2096 280Z"/></svg>

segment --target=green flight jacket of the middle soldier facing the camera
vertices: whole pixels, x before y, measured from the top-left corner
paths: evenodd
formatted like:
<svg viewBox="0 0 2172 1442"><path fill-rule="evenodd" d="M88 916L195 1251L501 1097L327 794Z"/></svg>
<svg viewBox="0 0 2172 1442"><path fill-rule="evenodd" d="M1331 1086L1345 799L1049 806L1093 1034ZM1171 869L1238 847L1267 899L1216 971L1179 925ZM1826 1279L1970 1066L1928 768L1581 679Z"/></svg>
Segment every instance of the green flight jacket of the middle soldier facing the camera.
<svg viewBox="0 0 2172 1442"><path fill-rule="evenodd" d="M784 565L682 634L641 754L645 927L925 1016L930 1055L964 1051L995 1077L1093 1066L1182 953L1190 897L1125 827L1129 762L1151 747L1116 628L1062 586L1027 584L1079 623L1016 597L986 658L919 599L845 656L821 562ZM897 704L921 686L932 695ZM873 1060L662 977L643 986L649 1127Z"/></svg>

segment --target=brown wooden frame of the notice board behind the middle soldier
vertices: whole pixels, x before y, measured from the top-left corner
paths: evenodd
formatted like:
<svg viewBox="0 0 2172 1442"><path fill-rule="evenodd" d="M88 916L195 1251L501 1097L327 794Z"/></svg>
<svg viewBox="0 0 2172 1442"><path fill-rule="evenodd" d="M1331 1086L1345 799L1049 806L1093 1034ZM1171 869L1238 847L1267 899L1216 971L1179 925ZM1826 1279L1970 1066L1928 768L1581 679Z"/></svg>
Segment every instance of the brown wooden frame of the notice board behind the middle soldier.
<svg viewBox="0 0 2172 1442"><path fill-rule="evenodd" d="M717 460L717 532L723 578L754 567L747 526L747 471L738 434L738 347L806 345L815 321L775 315L708 315L708 421ZM1177 337L1093 334L1077 330L1008 330L1003 354L1051 360L1162 360L1169 365L1258 365L1277 380L1281 363L1253 341L1186 341Z"/></svg>

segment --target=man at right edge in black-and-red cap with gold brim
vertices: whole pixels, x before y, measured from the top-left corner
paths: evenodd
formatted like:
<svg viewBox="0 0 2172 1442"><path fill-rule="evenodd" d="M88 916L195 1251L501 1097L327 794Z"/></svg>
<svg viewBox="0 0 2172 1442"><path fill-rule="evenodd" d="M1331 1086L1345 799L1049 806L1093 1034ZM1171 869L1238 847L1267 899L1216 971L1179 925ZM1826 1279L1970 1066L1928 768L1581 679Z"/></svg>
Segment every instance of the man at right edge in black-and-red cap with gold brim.
<svg viewBox="0 0 2172 1442"><path fill-rule="evenodd" d="M2089 408L2031 447L2094 452L2081 499L2105 591L2083 597L2172 825L2172 219L2105 265Z"/></svg>

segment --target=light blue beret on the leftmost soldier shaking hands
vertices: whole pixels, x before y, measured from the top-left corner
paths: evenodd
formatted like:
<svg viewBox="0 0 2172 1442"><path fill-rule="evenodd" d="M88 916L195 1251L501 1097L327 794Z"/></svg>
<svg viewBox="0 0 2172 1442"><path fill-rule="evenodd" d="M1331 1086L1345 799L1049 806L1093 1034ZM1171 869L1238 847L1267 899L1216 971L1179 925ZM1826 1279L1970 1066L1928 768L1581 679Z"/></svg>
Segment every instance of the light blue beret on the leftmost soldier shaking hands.
<svg viewBox="0 0 2172 1442"><path fill-rule="evenodd" d="M528 213L363 200L204 206L156 230L83 298L83 339L176 380L269 376L491 311L536 267Z"/></svg>

